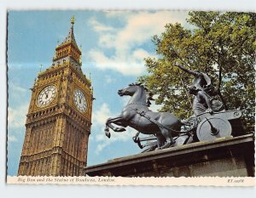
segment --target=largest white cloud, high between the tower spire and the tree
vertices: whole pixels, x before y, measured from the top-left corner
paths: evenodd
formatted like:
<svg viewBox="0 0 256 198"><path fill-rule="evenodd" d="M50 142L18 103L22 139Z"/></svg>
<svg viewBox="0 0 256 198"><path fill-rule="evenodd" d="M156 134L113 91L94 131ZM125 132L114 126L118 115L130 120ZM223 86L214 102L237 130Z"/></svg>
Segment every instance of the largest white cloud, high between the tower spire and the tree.
<svg viewBox="0 0 256 198"><path fill-rule="evenodd" d="M184 13L174 14L169 11L107 13L108 17L122 17L125 20L122 28L104 25L95 18L90 19L90 25L100 34L99 48L90 51L90 59L102 70L112 69L134 76L142 74L145 71L143 59L154 54L149 54L141 46L155 34L163 32L166 23L183 22ZM104 50L109 48L114 51L111 56L104 54Z"/></svg>

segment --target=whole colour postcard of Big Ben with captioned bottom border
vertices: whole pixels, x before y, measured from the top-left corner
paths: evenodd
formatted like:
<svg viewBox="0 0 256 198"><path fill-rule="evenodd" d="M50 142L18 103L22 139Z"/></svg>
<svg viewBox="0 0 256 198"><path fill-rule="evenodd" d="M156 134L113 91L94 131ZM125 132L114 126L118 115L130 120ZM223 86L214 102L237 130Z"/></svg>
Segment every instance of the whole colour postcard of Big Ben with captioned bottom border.
<svg viewBox="0 0 256 198"><path fill-rule="evenodd" d="M9 10L7 183L253 186L255 18Z"/></svg>

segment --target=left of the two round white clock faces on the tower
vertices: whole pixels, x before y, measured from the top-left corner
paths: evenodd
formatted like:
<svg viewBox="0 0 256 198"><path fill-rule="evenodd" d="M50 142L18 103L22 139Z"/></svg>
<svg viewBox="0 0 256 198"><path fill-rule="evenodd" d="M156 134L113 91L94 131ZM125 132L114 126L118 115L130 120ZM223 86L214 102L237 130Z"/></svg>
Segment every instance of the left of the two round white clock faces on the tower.
<svg viewBox="0 0 256 198"><path fill-rule="evenodd" d="M54 85L49 85L38 94L37 105L38 107L44 107L49 105L49 103L55 99L56 88Z"/></svg>

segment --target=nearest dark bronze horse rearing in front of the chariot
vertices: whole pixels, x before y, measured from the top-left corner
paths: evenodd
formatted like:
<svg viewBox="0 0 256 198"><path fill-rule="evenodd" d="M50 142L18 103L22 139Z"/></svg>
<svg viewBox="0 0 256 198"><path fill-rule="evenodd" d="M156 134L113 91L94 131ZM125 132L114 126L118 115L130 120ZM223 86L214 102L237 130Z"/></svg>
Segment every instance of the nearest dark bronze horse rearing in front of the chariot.
<svg viewBox="0 0 256 198"><path fill-rule="evenodd" d="M129 95L131 99L119 116L108 118L105 134L110 138L109 127L114 132L123 132L125 127L133 127L140 133L154 134L158 148L165 149L175 144L172 137L178 135L182 123L168 112L154 112L148 109L147 89L140 83L132 83L118 91L119 96ZM113 124L120 127L115 127Z"/></svg>

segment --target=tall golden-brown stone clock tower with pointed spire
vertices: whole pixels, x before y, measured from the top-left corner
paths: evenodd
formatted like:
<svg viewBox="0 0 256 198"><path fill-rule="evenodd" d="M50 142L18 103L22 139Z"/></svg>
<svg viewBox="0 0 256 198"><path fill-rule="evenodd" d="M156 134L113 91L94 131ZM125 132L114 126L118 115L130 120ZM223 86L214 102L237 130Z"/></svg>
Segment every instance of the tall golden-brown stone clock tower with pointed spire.
<svg viewBox="0 0 256 198"><path fill-rule="evenodd" d="M87 161L93 93L81 70L74 18L55 48L52 65L38 73L26 115L18 175L82 176Z"/></svg>

